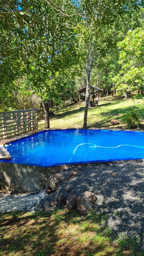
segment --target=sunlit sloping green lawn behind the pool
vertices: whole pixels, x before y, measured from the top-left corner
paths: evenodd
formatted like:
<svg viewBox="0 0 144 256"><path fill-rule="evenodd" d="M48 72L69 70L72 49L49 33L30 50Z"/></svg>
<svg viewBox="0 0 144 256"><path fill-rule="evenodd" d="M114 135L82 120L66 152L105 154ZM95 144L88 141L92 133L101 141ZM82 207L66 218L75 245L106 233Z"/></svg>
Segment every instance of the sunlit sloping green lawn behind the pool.
<svg viewBox="0 0 144 256"><path fill-rule="evenodd" d="M88 109L87 128L93 129L127 129L124 123L123 115L133 107L133 99L116 100L116 97L109 96L108 101L106 97L101 98L98 107L91 107ZM54 110L54 116L50 119L50 128L82 128L85 102L79 102L71 106L67 106L61 110ZM141 124L140 128L144 128L144 108L143 100L135 101L135 107L140 113ZM117 119L119 125L112 125L111 119ZM38 128L44 128L44 120L38 122Z"/></svg>

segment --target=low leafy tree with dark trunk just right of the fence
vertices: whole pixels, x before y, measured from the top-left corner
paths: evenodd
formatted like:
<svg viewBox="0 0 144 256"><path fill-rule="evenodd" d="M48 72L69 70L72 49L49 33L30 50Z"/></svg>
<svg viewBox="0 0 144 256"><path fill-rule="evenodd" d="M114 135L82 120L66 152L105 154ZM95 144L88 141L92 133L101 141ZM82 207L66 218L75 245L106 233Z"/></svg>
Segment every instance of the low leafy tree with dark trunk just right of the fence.
<svg viewBox="0 0 144 256"><path fill-rule="evenodd" d="M65 98L70 99L71 91L75 89L75 83L66 76L61 76L58 72L54 77L47 77L47 75L44 74L43 69L38 72L37 69L33 67L33 72L29 72L24 78L22 89L24 95L26 95L29 90L29 94L35 93L41 98L41 103L44 107L45 128L47 129L49 128L49 108L52 107L53 102L60 104L61 100ZM34 77L36 84L34 84ZM38 85L38 81L40 85ZM42 87L41 84L43 85Z"/></svg>

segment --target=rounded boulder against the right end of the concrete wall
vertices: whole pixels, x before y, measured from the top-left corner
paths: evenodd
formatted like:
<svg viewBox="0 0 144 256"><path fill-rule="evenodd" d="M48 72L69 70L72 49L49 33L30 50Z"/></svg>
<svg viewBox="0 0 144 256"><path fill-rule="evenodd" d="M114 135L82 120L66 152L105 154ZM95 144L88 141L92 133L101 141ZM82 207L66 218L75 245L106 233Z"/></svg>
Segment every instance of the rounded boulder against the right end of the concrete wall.
<svg viewBox="0 0 144 256"><path fill-rule="evenodd" d="M59 185L62 183L63 179L62 179L62 175L61 174L53 174L49 177L48 179L48 187L52 190L52 191L56 191L58 190Z"/></svg>

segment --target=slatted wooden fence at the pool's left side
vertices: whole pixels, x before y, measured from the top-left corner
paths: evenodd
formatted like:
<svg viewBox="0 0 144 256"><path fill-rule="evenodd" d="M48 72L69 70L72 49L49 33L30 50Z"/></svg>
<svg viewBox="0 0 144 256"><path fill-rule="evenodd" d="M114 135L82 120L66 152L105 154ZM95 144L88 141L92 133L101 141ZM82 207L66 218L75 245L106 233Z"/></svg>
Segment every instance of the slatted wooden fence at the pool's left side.
<svg viewBox="0 0 144 256"><path fill-rule="evenodd" d="M38 109L0 112L0 140L38 129Z"/></svg>

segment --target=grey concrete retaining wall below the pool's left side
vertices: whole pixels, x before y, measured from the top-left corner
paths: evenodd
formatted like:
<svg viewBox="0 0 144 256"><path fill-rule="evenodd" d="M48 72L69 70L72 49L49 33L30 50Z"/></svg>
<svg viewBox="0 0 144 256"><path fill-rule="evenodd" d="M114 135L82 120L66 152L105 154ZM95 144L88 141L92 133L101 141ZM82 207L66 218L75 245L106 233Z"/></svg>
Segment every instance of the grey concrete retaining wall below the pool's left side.
<svg viewBox="0 0 144 256"><path fill-rule="evenodd" d="M38 167L0 162L0 190L31 192L46 187L49 176L65 166Z"/></svg>

